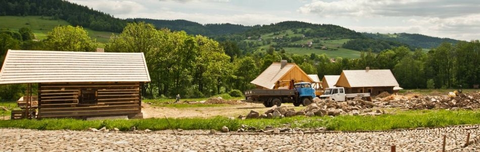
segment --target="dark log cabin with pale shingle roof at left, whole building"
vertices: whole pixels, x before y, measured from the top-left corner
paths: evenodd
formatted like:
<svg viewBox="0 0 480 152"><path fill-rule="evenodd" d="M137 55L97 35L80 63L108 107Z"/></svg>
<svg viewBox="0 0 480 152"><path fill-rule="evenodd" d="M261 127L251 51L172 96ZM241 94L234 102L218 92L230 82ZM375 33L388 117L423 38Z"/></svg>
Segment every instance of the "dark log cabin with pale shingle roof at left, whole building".
<svg viewBox="0 0 480 152"><path fill-rule="evenodd" d="M21 116L30 118L142 118L147 82L143 53L8 50L0 71L0 84L28 84ZM32 84L38 84L38 105Z"/></svg>

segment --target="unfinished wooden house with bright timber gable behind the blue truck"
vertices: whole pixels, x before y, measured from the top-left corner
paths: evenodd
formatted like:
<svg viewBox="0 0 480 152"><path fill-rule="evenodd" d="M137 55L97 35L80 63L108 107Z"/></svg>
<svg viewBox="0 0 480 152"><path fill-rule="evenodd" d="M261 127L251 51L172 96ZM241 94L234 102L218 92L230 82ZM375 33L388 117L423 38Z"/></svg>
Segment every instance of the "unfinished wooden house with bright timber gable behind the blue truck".
<svg viewBox="0 0 480 152"><path fill-rule="evenodd" d="M272 63L252 82L257 89L278 89L288 88L294 82L314 82L299 66L295 63L287 63L282 60L280 63Z"/></svg>

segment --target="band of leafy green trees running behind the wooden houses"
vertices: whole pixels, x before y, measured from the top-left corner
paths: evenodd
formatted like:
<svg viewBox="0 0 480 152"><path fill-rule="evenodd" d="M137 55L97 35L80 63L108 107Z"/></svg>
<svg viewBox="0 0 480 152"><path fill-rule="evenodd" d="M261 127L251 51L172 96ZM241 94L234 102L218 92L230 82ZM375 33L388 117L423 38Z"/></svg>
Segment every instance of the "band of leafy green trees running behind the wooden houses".
<svg viewBox="0 0 480 152"><path fill-rule="evenodd" d="M5 31L5 30L4 30ZM28 31L27 29L22 30ZM0 51L7 49L92 52L97 43L82 27L58 26L40 41L29 40L16 32L0 32ZM28 32L27 32L28 33ZM22 38L19 38L22 37ZM28 37L28 36L26 36ZM151 83L142 86L146 97L205 97L234 89L255 88L250 82L273 62L296 63L307 74L340 75L342 70L390 69L401 87L464 88L479 84L480 42L444 42L425 53L406 46L393 47L374 54L361 53L359 59L335 58L325 54L295 55L275 49L243 52L235 41L216 41L184 31L156 29L145 22L128 23L118 35L112 35L106 52L142 52L148 64ZM3 60L2 60L3 61ZM2 85L3 99L16 99L22 85Z"/></svg>

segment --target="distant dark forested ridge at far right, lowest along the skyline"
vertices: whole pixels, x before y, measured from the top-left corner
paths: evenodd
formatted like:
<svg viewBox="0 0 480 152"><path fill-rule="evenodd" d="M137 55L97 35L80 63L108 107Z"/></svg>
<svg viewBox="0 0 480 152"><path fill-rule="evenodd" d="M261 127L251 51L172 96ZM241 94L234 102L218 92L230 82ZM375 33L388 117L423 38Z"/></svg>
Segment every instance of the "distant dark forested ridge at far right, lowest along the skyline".
<svg viewBox="0 0 480 152"><path fill-rule="evenodd" d="M456 44L458 40L451 38L439 38L426 36L422 34L409 34L409 33L395 33L395 34L380 34L380 33L362 33L365 37L378 39L378 40L387 40L387 41L397 41L401 43L408 44L412 47L421 47L421 48L433 48L439 46L442 42L449 42Z"/></svg>

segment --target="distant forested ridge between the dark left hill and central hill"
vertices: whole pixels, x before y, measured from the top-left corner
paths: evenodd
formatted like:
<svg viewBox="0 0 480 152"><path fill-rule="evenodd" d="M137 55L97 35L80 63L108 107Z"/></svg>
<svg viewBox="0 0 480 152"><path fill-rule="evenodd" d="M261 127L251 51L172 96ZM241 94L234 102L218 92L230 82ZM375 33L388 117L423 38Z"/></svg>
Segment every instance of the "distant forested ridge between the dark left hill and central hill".
<svg viewBox="0 0 480 152"><path fill-rule="evenodd" d="M157 28L168 28L174 31L185 31L188 34L193 35L205 35L205 36L215 36L215 35L224 35L244 32L251 26L237 25L237 24L199 24L197 22L191 22L187 20L155 20L155 19L127 19L128 21L143 21L155 25Z"/></svg>

